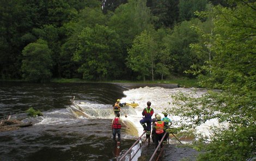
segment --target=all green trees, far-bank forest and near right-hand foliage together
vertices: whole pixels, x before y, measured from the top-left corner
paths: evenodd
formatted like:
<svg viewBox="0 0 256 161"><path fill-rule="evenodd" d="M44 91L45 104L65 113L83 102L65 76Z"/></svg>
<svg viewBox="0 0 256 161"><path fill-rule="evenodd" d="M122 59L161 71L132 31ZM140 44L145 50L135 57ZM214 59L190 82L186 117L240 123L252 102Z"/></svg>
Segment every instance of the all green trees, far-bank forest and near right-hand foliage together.
<svg viewBox="0 0 256 161"><path fill-rule="evenodd" d="M208 120L198 160L256 158L253 0L2 0L1 80L197 78L202 97L176 94L182 129Z"/></svg>

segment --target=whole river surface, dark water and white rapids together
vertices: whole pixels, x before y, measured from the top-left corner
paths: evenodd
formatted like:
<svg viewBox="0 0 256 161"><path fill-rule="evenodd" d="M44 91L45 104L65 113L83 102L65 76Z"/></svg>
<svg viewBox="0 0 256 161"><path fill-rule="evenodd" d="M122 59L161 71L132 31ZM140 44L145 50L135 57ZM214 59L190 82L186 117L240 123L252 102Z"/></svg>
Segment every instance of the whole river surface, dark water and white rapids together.
<svg viewBox="0 0 256 161"><path fill-rule="evenodd" d="M152 102L155 112L161 113L164 108L170 108L170 95L191 90L148 86L126 89L105 83L1 82L0 119L11 115L12 118L23 118L23 122L32 121L33 126L0 132L0 160L115 160L111 120L114 116L112 104L118 98L121 102L139 104L135 109L121 109L123 120L133 125L130 131L122 129L120 150L123 153L143 132L139 120L147 101ZM74 105L70 102L73 96L78 105L82 103L80 111L86 115L74 113ZM44 116L26 118L25 111L29 107L40 110ZM174 122L180 119L169 117ZM206 132L204 128L199 130ZM168 148L172 150L168 151ZM175 156L173 151L181 154ZM167 145L162 160L186 157L193 160L191 153L194 151Z"/></svg>

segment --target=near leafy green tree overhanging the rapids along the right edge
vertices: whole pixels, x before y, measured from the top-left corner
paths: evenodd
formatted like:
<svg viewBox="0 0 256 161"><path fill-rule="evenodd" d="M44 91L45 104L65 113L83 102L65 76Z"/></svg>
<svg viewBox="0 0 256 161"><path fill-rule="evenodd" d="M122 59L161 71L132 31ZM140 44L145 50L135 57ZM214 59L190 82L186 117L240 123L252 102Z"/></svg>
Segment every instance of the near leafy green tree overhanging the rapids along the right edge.
<svg viewBox="0 0 256 161"><path fill-rule="evenodd" d="M235 2L233 8L214 8L212 61L202 67L199 83L209 88L201 97L179 95L173 109L195 127L210 119L225 126L212 127L210 138L202 138L199 160L248 160L256 153L256 2ZM210 67L209 67L210 66ZM220 90L214 90L220 89ZM209 141L210 139L210 141Z"/></svg>

